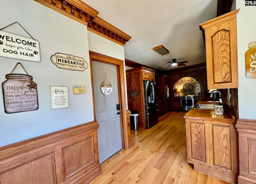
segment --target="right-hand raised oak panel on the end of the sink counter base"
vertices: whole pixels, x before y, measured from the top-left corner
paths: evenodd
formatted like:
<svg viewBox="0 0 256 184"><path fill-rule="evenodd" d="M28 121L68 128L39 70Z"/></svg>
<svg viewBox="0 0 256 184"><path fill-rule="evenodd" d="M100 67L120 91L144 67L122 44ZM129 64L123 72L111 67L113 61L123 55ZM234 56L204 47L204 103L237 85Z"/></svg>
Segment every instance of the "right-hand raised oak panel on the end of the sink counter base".
<svg viewBox="0 0 256 184"><path fill-rule="evenodd" d="M213 144L214 164L231 169L230 126L213 125Z"/></svg>

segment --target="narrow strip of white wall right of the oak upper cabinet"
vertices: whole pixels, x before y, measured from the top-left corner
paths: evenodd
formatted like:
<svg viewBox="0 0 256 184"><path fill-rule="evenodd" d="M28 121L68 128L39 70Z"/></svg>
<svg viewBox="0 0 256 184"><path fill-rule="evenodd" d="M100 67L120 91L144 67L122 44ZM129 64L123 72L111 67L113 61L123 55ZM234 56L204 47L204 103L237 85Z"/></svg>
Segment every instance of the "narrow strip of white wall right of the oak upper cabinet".
<svg viewBox="0 0 256 184"><path fill-rule="evenodd" d="M236 0L238 45L238 111L241 119L256 119L256 78L246 77L245 53L248 44L256 41L256 6L245 6Z"/></svg>

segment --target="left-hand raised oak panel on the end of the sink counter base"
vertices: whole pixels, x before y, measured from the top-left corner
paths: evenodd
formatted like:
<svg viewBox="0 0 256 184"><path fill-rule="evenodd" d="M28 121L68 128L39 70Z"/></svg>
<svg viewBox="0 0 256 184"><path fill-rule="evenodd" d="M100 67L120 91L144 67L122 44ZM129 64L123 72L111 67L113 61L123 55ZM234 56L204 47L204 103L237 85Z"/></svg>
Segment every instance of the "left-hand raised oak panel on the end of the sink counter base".
<svg viewBox="0 0 256 184"><path fill-rule="evenodd" d="M192 159L206 162L204 123L191 123Z"/></svg>

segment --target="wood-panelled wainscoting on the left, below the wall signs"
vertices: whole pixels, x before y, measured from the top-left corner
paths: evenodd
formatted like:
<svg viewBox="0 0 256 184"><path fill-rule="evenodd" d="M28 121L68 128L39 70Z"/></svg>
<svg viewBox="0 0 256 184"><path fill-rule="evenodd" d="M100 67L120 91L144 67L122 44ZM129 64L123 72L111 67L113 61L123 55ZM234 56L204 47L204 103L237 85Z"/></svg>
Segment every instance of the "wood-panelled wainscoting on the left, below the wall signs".
<svg viewBox="0 0 256 184"><path fill-rule="evenodd" d="M0 184L87 184L98 177L96 121L0 147Z"/></svg>

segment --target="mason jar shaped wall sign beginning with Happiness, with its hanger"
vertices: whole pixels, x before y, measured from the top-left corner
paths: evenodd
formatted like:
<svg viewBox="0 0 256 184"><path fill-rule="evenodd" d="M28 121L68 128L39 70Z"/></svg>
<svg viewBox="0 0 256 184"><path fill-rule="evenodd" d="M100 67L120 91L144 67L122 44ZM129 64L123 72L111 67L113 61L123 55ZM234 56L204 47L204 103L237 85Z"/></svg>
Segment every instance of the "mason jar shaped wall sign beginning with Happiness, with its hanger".
<svg viewBox="0 0 256 184"><path fill-rule="evenodd" d="M17 63L12 72L16 69ZM22 66L24 69L24 67ZM28 74L6 74L6 81L2 83L4 97L4 111L7 114L38 110L38 96L36 83Z"/></svg>

